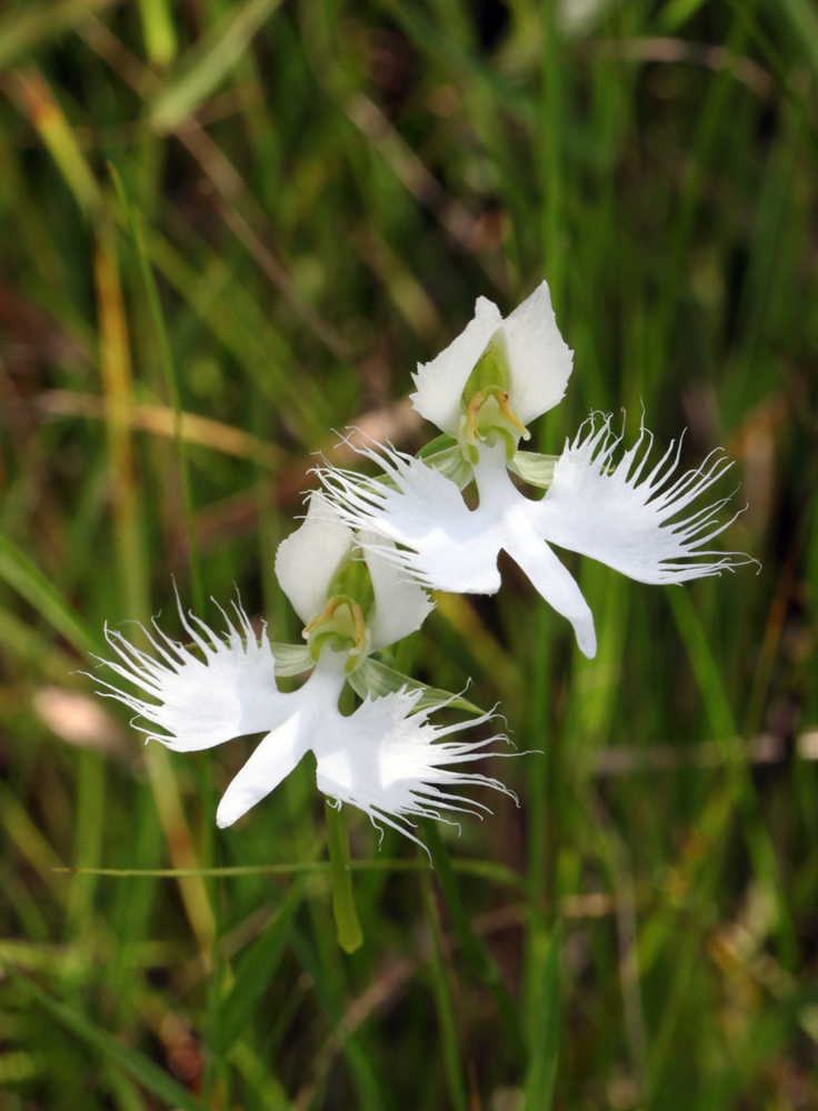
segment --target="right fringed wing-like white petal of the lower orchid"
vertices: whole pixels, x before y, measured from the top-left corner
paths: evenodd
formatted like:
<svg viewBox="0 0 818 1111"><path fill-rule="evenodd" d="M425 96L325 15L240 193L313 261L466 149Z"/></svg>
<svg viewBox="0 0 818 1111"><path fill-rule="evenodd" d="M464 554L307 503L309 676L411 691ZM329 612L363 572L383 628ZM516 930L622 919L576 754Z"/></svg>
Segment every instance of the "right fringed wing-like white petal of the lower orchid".
<svg viewBox="0 0 818 1111"><path fill-rule="evenodd" d="M429 711L412 713L420 693L400 691L375 702L367 699L350 718L340 719L332 734L313 745L319 791L358 807L376 825L383 822L412 841L418 839L407 829L411 818L446 821L445 812L488 810L483 803L452 793L452 788L490 787L515 798L497 779L446 767L491 755L488 745L506 740L443 740L466 725L490 721L491 714L447 728L429 724Z"/></svg>

